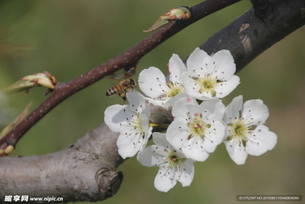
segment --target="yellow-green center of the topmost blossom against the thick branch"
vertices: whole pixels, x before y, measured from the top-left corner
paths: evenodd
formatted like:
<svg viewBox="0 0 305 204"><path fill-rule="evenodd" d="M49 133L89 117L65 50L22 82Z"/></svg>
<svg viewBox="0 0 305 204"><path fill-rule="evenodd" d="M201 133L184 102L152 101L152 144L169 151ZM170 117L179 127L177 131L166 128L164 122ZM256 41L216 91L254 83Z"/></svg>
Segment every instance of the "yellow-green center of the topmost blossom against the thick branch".
<svg viewBox="0 0 305 204"><path fill-rule="evenodd" d="M222 81L217 81L217 77L214 78L211 74L196 79L196 83L200 87L199 93L202 94L203 92L208 92L212 96L216 96L215 85L220 82Z"/></svg>

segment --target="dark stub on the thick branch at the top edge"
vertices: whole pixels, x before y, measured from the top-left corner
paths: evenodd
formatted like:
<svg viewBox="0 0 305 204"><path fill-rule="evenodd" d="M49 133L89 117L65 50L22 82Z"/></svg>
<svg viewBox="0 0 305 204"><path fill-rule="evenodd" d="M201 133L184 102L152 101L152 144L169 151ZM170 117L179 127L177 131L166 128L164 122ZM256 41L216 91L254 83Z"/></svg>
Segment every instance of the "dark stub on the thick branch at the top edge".
<svg viewBox="0 0 305 204"><path fill-rule="evenodd" d="M272 5L269 0L251 0L255 15L263 21L270 20L273 16Z"/></svg>

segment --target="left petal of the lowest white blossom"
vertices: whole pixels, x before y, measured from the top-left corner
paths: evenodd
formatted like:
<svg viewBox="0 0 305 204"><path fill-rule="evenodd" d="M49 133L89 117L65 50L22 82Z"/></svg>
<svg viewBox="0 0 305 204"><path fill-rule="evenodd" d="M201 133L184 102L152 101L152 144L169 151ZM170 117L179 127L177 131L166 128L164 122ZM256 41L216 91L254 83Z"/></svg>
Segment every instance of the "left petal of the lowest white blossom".
<svg viewBox="0 0 305 204"><path fill-rule="evenodd" d="M159 164L162 163L162 154L159 154L157 151L155 151L156 147L158 146L151 145L146 147L142 152L139 152L137 160L140 162L140 164L142 164L143 166L152 167L159 166Z"/></svg>

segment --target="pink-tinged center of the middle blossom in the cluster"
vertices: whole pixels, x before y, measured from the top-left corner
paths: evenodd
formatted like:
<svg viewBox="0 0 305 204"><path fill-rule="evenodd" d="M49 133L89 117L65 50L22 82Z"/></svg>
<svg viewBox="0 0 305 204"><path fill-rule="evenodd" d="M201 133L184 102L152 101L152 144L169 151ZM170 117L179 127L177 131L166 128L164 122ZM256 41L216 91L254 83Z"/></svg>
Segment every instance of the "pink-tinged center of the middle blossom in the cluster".
<svg viewBox="0 0 305 204"><path fill-rule="evenodd" d="M211 125L206 124L199 115L196 115L196 118L188 123L188 127L191 132L191 134L188 135L188 139L191 139L192 137L200 137L203 139L206 129L210 128Z"/></svg>

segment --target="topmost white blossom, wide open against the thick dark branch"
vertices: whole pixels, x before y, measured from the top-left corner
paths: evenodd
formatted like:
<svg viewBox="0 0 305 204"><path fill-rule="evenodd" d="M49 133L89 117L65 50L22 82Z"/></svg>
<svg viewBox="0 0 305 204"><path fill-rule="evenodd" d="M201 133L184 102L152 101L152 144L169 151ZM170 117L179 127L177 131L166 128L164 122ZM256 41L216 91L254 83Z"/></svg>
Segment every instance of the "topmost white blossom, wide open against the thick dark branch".
<svg viewBox="0 0 305 204"><path fill-rule="evenodd" d="M187 59L183 73L185 92L199 100L223 98L240 83L234 75L236 65L229 50L220 50L213 56L197 47Z"/></svg>

